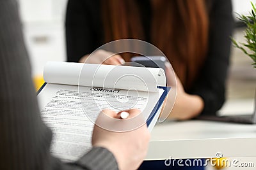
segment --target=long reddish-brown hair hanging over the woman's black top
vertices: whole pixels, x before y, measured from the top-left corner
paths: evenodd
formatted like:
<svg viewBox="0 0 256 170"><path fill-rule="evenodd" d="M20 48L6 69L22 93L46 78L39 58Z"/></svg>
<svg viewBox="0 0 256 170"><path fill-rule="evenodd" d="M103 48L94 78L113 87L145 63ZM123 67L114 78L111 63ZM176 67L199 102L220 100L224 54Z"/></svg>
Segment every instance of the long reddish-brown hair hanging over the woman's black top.
<svg viewBox="0 0 256 170"><path fill-rule="evenodd" d="M209 18L205 0L152 0L150 39L170 60L188 89L207 55ZM145 39L136 0L103 0L105 42ZM129 60L129 57L125 57Z"/></svg>

